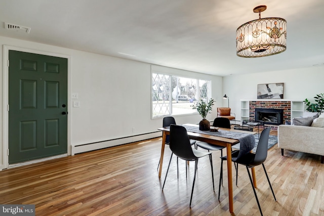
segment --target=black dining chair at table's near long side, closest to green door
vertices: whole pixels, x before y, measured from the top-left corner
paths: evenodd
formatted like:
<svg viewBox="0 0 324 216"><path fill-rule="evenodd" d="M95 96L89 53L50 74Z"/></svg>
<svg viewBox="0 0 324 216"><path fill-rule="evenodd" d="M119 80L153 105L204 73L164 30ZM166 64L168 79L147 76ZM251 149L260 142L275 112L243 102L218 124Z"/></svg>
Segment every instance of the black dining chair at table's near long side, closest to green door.
<svg viewBox="0 0 324 216"><path fill-rule="evenodd" d="M210 160L211 168L212 168L213 190L215 190L212 153L198 151L196 149L191 148L191 144L189 141L189 137L188 137L186 128L183 126L180 126L180 125L175 125L175 124L170 125L170 144L169 145L170 145L172 154L170 157L170 161L169 161L169 165L168 165L168 169L167 169L167 173L166 173L166 178L164 180L162 190L164 189L164 186L166 184L166 180L167 180L167 176L168 176L168 172L169 172L173 154L175 154L178 158L181 158L186 161L195 161L194 176L193 176L191 197L190 197L190 203L189 203L189 206L191 206L193 188L194 188L194 183L195 183L195 179L196 179L198 159L200 157L204 157L207 155L209 156L209 160Z"/></svg>

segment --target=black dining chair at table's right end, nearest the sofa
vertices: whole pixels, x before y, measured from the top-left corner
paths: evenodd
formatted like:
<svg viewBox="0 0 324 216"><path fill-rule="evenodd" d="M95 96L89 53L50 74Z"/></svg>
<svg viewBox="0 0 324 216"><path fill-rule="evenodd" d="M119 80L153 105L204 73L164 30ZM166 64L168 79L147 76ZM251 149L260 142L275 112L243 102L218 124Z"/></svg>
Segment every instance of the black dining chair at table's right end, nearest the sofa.
<svg viewBox="0 0 324 216"><path fill-rule="evenodd" d="M250 182L251 182L253 192L254 192L255 198L257 200L261 215L263 215L262 210L261 210L261 206L260 206L259 199L258 199L257 193L256 193L254 185L253 185L253 181L252 181L252 178L251 178L249 168L253 168L253 167L257 166L257 165L262 164L265 175L267 177L267 180L268 180L268 183L269 183L269 186L270 186L270 189L271 189L271 192L272 192L272 195L274 197L274 200L277 201L276 198L275 198L275 195L274 195L274 192L273 192L273 189L272 189L272 186L271 186L267 171L266 171L265 166L264 166L264 161L267 159L267 154L268 154L269 134L270 134L270 127L265 128L261 132L260 140L259 140L259 143L258 143L256 153L251 153L250 152L253 148L250 151L248 151L246 149L247 152L245 152L245 153L240 153L240 150L235 150L235 151L232 152L232 161L237 163L237 165L242 164L242 165L245 165L247 167ZM240 146L240 148L241 148L241 146ZM221 159L222 159L222 163L221 163L221 175L220 175L220 182L219 182L218 199L219 199L219 192L220 192L220 188L221 188L221 179L222 179L222 174L223 174L223 172L222 172L223 160L226 160L227 157L224 156ZM238 166L237 166L237 171L238 171ZM237 185L237 171L236 171L236 185Z"/></svg>

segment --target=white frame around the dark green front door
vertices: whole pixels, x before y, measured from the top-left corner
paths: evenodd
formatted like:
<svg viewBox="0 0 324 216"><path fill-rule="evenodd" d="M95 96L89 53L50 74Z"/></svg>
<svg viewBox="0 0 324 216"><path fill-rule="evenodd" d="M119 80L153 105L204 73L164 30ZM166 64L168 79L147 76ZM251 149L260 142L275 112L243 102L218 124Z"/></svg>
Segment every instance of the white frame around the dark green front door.
<svg viewBox="0 0 324 216"><path fill-rule="evenodd" d="M59 53L51 53L47 51L41 50L33 50L28 48L22 47L14 47L4 45L3 47L3 161L2 167L0 170L8 168L9 166L9 157L8 157L8 149L9 149L9 112L8 112L8 105L9 105L9 50L21 51L25 53L33 53L39 55L46 55L46 56L54 56L54 57L61 57L67 59L67 110L68 113L71 113L70 107L70 93L71 93L71 56ZM67 115L67 154L71 155L71 140L70 140L70 122L71 122L71 115Z"/></svg>

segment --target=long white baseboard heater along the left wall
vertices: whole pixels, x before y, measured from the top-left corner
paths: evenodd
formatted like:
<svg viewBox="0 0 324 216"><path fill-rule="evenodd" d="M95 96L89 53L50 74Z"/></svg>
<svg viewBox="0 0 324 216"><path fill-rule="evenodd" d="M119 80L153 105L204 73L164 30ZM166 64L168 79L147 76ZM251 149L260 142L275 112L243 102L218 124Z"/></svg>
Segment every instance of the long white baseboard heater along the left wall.
<svg viewBox="0 0 324 216"><path fill-rule="evenodd" d="M122 138L115 138L111 140L104 140L104 141L99 141L94 143L80 144L80 145L72 146L71 155L83 153L87 151L94 151L98 149L108 148L112 146L125 145L129 143L153 139L161 136L162 136L162 132L155 131L155 132L139 134L139 135L134 135L129 137L122 137Z"/></svg>

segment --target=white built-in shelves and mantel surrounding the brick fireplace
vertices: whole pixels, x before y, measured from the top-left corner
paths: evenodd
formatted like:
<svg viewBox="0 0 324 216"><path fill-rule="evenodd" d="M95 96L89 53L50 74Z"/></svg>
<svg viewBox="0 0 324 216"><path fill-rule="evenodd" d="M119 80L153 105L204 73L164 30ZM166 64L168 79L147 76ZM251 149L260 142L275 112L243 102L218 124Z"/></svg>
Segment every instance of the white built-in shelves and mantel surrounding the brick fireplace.
<svg viewBox="0 0 324 216"><path fill-rule="evenodd" d="M241 122L250 118L250 101L269 101L265 99L251 99L251 100L240 100L241 102ZM290 101L291 103L291 120L295 117L303 116L305 105L302 100L286 100L286 99L278 99L275 101Z"/></svg>

